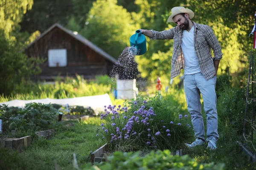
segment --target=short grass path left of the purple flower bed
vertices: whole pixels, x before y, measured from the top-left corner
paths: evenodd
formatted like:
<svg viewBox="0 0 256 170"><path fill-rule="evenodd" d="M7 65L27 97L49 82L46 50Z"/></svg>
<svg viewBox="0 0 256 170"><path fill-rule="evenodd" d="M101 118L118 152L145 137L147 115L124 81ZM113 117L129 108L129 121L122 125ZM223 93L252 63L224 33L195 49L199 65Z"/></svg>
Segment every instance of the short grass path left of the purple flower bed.
<svg viewBox="0 0 256 170"><path fill-rule="evenodd" d="M96 137L98 121L76 122L73 127L63 127L51 139L35 139L32 146L21 153L0 149L0 170L50 170L56 160L59 169L73 169L73 153L78 164L90 161L90 151L104 142Z"/></svg>

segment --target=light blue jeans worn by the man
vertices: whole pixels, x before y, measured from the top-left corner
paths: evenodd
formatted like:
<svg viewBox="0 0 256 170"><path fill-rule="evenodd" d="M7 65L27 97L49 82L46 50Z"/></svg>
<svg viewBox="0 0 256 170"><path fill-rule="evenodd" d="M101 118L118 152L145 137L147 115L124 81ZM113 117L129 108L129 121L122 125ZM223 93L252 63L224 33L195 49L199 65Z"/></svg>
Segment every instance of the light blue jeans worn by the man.
<svg viewBox="0 0 256 170"><path fill-rule="evenodd" d="M184 75L184 91L188 111L191 115L191 122L194 128L195 137L205 141L204 121L200 93L204 101L204 111L207 119L207 142L213 137L218 140L218 114L217 97L215 93L217 77L206 81L202 72Z"/></svg>

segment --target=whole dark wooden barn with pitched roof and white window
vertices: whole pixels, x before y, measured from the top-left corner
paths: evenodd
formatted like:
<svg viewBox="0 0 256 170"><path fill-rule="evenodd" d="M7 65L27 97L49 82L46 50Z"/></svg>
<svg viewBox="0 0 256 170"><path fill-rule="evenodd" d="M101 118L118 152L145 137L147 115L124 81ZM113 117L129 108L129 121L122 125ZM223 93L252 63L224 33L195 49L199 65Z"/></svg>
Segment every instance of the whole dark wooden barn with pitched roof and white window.
<svg viewBox="0 0 256 170"><path fill-rule="evenodd" d="M92 42L56 23L25 49L28 57L41 57L41 74L35 80L51 81L56 76L85 79L111 74L117 60Z"/></svg>

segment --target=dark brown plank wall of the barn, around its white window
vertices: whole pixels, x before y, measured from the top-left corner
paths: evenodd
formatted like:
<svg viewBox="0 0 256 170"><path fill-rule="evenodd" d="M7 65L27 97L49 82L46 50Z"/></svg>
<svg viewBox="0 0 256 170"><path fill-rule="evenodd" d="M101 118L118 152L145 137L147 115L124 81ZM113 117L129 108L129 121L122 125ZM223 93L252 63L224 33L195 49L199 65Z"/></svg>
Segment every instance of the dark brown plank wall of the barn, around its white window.
<svg viewBox="0 0 256 170"><path fill-rule="evenodd" d="M67 49L67 67L49 68L48 50ZM52 76L94 77L95 75L110 74L113 63L100 54L93 51L87 45L70 36L58 27L53 28L44 37L25 50L29 57L41 57L46 61L41 65L42 72L37 79L47 79Z"/></svg>

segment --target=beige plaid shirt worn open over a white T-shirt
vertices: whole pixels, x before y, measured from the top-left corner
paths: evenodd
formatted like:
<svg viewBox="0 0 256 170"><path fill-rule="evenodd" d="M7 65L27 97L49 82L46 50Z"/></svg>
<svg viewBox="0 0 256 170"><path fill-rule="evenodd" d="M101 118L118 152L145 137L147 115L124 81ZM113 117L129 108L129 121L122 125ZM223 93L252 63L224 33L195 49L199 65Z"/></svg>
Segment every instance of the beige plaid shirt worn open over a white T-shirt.
<svg viewBox="0 0 256 170"><path fill-rule="evenodd" d="M207 25L194 23L194 44L195 54L198 59L198 64L201 68L202 74L208 81L215 75L215 68L213 60L221 60L221 46L213 33L212 29ZM184 69L184 59L181 51L181 42L183 38L183 30L178 26L165 31L150 30L153 34L151 40L174 40L173 53L172 53L172 70L171 78L174 78L180 74L180 70ZM213 50L214 57L212 59L211 48Z"/></svg>

